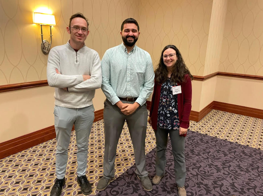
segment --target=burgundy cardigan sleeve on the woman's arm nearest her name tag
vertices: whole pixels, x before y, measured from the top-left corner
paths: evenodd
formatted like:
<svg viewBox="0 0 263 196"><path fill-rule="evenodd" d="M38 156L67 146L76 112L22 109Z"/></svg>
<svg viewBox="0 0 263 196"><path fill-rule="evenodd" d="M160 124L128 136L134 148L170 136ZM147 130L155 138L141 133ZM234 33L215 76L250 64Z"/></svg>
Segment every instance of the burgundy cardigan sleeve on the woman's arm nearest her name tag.
<svg viewBox="0 0 263 196"><path fill-rule="evenodd" d="M183 111L181 117L180 127L188 128L189 127L189 116L192 108L192 83L188 75L186 75L186 81L183 83Z"/></svg>

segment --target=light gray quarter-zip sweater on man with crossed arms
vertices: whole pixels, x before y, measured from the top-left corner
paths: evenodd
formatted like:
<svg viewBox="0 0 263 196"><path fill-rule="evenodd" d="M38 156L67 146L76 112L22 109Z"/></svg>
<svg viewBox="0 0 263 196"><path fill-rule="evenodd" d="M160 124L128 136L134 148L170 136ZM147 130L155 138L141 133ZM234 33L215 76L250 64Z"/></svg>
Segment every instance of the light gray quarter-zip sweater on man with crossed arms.
<svg viewBox="0 0 263 196"><path fill-rule="evenodd" d="M61 74L57 74L56 69ZM83 75L90 75L90 79L83 81ZM47 80L49 86L55 87L55 105L67 108L90 106L95 89L102 83L99 54L85 44L76 52L69 41L54 47L48 55Z"/></svg>

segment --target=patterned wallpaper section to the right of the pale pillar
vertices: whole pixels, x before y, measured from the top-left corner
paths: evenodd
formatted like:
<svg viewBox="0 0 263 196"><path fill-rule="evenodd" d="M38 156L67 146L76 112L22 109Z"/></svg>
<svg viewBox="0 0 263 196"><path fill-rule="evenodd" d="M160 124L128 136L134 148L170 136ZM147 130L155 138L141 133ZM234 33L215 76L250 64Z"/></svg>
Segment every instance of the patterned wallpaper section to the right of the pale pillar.
<svg viewBox="0 0 263 196"><path fill-rule="evenodd" d="M262 0L228 0L219 71L263 75L262 21Z"/></svg>

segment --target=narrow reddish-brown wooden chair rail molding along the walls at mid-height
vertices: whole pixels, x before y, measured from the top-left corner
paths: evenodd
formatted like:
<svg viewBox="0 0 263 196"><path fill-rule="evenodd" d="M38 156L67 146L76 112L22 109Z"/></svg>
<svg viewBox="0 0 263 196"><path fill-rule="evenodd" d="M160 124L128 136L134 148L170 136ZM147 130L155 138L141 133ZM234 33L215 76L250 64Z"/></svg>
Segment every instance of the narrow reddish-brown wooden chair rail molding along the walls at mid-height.
<svg viewBox="0 0 263 196"><path fill-rule="evenodd" d="M234 73L226 73L226 72L215 72L213 74L209 74L206 76L194 75L194 80L204 81L204 80L212 78L216 75L237 77L237 78L255 79L255 80L263 80L263 76L247 75L247 74L234 74ZM0 85L0 92L27 89L27 88L33 88L33 87L38 87L38 86L47 86L47 85L48 85L47 80L39 80L39 81L33 81L33 82L23 82L23 83L17 83L17 84Z"/></svg>

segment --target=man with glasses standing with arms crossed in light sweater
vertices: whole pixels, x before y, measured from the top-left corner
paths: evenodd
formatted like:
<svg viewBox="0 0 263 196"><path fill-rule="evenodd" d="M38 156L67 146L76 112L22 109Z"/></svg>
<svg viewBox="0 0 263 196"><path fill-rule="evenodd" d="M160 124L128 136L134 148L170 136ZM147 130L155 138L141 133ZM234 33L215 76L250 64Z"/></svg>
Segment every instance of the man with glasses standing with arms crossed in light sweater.
<svg viewBox="0 0 263 196"><path fill-rule="evenodd" d="M88 20L81 13L69 19L67 44L52 48L48 55L47 80L55 87L55 132L57 139L55 184L51 196L61 195L65 184L68 146L72 126L77 140L77 182L83 194L91 193L86 177L88 140L94 120L92 99L100 88L102 73L99 54L87 46Z"/></svg>

